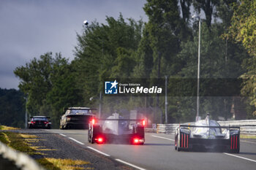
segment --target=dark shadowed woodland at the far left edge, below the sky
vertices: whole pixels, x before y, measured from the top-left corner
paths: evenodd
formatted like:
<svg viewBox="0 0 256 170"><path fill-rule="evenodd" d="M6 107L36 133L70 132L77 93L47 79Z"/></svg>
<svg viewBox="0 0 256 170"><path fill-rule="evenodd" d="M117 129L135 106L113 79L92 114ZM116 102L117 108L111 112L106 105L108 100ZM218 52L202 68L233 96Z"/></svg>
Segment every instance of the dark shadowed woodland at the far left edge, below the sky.
<svg viewBox="0 0 256 170"><path fill-rule="evenodd" d="M0 124L12 127L24 127L25 102L20 90L0 88Z"/></svg>

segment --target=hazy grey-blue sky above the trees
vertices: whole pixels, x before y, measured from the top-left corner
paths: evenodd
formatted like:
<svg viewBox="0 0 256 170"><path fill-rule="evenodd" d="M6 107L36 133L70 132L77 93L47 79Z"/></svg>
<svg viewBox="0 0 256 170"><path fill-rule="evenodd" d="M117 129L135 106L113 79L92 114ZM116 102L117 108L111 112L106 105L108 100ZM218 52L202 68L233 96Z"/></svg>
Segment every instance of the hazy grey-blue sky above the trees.
<svg viewBox="0 0 256 170"><path fill-rule="evenodd" d="M18 89L17 66L47 52L71 61L83 20L105 23L106 16L140 20L146 0L1 0L0 88Z"/></svg>

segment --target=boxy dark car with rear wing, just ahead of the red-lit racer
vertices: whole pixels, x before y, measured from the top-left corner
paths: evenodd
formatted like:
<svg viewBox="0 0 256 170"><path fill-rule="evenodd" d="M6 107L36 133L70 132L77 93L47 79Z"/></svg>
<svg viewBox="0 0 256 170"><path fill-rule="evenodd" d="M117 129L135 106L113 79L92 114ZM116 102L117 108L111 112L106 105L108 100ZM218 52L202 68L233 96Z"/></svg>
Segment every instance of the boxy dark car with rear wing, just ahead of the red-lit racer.
<svg viewBox="0 0 256 170"><path fill-rule="evenodd" d="M94 117L93 110L95 109L89 107L69 107L64 109L65 113L61 116L60 128L88 128L89 120Z"/></svg>

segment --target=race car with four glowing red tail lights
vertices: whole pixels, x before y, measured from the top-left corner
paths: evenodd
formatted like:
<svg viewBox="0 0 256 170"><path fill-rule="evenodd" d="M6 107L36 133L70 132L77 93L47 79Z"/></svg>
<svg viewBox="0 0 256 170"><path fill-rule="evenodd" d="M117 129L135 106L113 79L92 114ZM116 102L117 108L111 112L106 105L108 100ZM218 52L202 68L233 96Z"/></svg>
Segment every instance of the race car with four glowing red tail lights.
<svg viewBox="0 0 256 170"><path fill-rule="evenodd" d="M88 142L144 144L144 125L145 120L124 119L117 113L106 119L94 117L89 123Z"/></svg>

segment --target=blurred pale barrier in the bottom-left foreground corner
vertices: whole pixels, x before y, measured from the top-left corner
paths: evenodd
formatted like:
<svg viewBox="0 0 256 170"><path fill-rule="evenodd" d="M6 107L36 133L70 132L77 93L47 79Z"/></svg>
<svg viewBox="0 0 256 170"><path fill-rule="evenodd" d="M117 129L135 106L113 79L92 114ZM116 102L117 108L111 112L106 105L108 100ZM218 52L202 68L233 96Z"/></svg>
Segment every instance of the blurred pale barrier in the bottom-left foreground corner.
<svg viewBox="0 0 256 170"><path fill-rule="evenodd" d="M33 158L30 158L29 155L12 150L12 148L7 147L7 145L2 142L0 142L0 155L0 162L4 162L5 166L8 166L4 167L4 169L15 169L16 167L16 169L22 170L44 170ZM9 163L7 163L7 161L9 161Z"/></svg>

